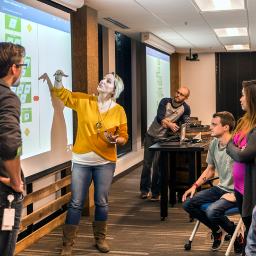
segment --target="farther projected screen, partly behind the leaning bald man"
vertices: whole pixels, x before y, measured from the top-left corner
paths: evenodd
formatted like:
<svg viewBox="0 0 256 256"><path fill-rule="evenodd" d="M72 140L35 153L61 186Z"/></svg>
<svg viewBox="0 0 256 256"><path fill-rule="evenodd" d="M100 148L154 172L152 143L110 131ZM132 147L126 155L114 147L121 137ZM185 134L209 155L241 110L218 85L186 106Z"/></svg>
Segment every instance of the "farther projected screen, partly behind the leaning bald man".
<svg viewBox="0 0 256 256"><path fill-rule="evenodd" d="M147 58L147 127L157 115L160 100L170 97L170 57L146 47Z"/></svg>

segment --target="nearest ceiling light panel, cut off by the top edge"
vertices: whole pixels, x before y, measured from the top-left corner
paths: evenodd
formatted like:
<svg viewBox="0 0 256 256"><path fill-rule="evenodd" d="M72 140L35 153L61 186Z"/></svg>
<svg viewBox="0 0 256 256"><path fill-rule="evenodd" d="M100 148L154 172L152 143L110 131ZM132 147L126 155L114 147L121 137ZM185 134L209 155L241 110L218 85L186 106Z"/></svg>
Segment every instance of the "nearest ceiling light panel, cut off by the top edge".
<svg viewBox="0 0 256 256"><path fill-rule="evenodd" d="M202 12L244 9L244 0L191 0Z"/></svg>

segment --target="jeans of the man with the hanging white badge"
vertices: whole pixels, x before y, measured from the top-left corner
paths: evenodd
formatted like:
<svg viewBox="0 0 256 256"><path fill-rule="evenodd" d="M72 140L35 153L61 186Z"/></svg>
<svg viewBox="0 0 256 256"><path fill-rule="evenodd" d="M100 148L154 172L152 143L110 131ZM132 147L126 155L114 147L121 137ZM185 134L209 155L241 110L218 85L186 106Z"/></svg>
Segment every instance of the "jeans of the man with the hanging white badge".
<svg viewBox="0 0 256 256"><path fill-rule="evenodd" d="M12 201L12 208L15 209L15 219L12 231L2 231L2 221L4 209L9 207L7 196L10 192L0 191L0 255L13 256L15 246L20 229L20 220L22 214L23 194L13 193L14 200Z"/></svg>

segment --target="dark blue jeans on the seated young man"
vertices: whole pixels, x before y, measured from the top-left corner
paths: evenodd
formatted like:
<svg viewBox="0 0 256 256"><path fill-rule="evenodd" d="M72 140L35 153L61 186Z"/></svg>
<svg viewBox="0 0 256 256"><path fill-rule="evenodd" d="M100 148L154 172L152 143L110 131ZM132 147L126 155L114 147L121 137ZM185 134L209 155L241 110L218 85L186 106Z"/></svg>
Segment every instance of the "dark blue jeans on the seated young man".
<svg viewBox="0 0 256 256"><path fill-rule="evenodd" d="M224 216L224 212L237 207L237 204L236 202L229 202L221 198L226 193L228 192L220 189L218 186L213 186L207 190L195 193L192 199L189 195L186 201L182 203L182 206L186 212L209 227L212 231L215 231L220 226L229 235L233 235L235 224ZM204 203L212 203L205 212L200 210L200 207Z"/></svg>

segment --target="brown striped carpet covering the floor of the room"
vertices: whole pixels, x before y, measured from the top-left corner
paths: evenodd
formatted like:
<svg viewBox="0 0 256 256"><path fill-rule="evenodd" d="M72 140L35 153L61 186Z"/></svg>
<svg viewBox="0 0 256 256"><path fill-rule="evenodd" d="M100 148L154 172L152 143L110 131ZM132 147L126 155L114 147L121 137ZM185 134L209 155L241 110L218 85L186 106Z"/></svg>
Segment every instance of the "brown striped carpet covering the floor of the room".
<svg viewBox="0 0 256 256"><path fill-rule="evenodd" d="M194 228L189 215L183 210L181 202L169 208L169 216L160 220L160 201L151 202L140 199L140 174L142 167L135 169L112 184L109 195L109 217L107 243L110 246L108 256L172 256L172 255L214 255L224 256L228 242L224 242L218 251L212 251L210 230L200 225L190 251L184 245ZM237 223L240 216L232 216ZM100 255L92 235L94 216L82 217L79 235L73 246L73 256ZM42 237L39 241L19 253L27 255L59 255L62 250L62 226ZM102 254L101 254L102 255ZM232 249L231 254L234 255Z"/></svg>

